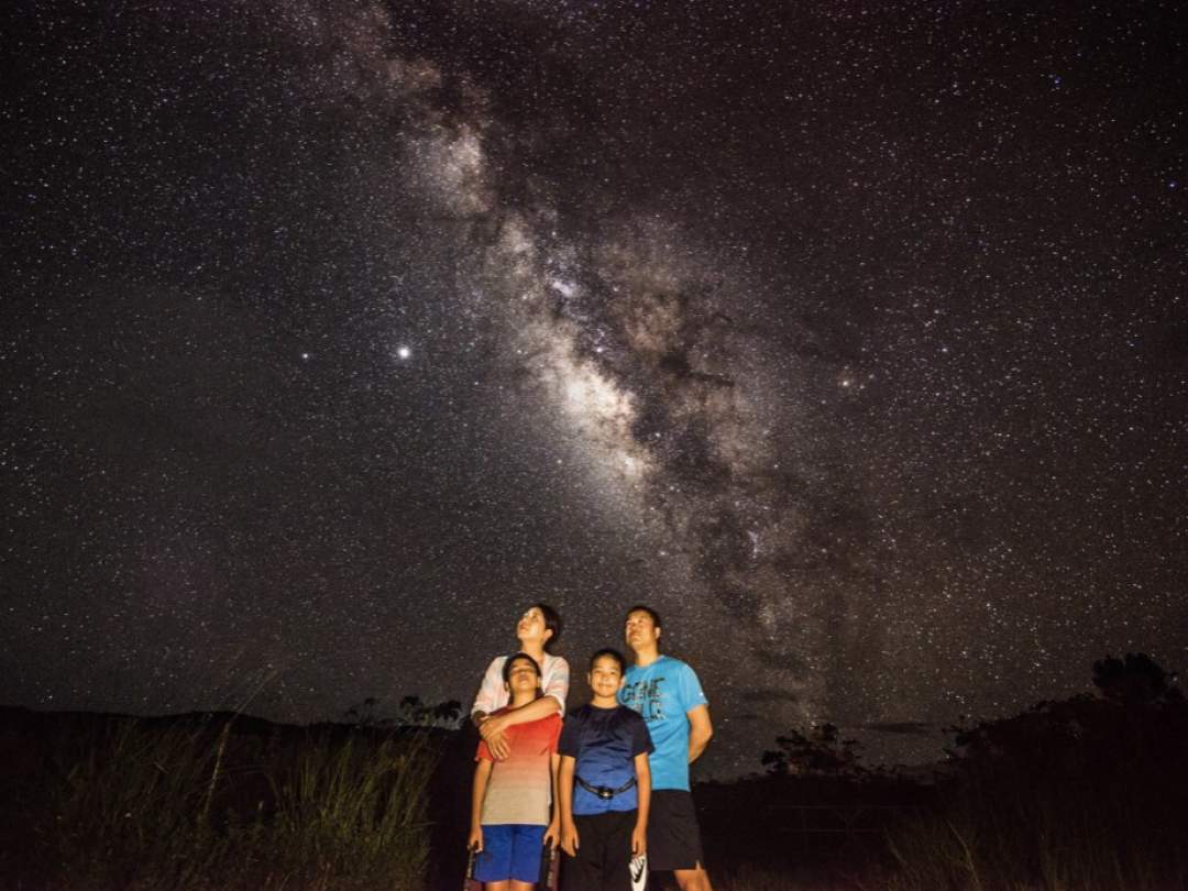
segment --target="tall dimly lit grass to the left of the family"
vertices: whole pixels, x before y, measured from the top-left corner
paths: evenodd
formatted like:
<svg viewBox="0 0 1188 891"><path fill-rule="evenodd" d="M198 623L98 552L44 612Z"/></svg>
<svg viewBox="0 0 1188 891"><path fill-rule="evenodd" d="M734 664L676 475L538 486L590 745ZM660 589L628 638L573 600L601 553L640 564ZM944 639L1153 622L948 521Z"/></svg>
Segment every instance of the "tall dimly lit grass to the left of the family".
<svg viewBox="0 0 1188 891"><path fill-rule="evenodd" d="M232 725L121 720L59 740L29 846L0 876L69 889L423 886L423 733L238 738ZM2 884L2 883L0 883Z"/></svg>

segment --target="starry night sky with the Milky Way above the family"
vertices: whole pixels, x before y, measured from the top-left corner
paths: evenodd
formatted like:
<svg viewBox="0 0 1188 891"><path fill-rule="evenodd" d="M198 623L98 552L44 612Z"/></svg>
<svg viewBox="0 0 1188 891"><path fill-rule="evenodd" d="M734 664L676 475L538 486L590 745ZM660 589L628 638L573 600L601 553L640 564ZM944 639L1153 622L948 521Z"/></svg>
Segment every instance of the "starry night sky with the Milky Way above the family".
<svg viewBox="0 0 1188 891"><path fill-rule="evenodd" d="M1188 668L1176 6L8 5L0 701L468 701L646 601L728 773Z"/></svg>

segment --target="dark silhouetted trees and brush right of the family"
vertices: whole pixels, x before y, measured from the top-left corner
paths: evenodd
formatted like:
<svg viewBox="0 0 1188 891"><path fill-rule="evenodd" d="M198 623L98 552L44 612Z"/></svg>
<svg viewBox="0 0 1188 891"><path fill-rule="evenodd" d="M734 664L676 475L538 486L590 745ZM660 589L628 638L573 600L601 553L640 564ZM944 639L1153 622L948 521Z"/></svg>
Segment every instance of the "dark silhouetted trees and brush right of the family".
<svg viewBox="0 0 1188 891"><path fill-rule="evenodd" d="M767 874L786 877L827 847L805 843L808 829L840 839L835 872L849 880L838 887L1188 889L1188 703L1175 675L1127 653L1094 663L1092 680L1095 695L950 728L948 762L922 785L862 767L832 725L791 729L763 756L767 777L715 790L719 838L735 848L722 853L753 870L779 852ZM857 832L822 827L830 808Z"/></svg>

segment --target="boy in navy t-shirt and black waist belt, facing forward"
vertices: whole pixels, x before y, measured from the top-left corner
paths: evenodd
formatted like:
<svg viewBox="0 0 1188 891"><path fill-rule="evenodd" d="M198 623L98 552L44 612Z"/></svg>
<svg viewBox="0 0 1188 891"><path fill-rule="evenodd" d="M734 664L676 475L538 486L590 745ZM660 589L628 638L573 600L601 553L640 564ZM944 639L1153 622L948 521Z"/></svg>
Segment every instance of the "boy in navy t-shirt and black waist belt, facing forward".
<svg viewBox="0 0 1188 891"><path fill-rule="evenodd" d="M643 718L619 704L625 668L618 650L594 653L594 695L561 731L563 891L630 891L631 858L647 849L652 741Z"/></svg>

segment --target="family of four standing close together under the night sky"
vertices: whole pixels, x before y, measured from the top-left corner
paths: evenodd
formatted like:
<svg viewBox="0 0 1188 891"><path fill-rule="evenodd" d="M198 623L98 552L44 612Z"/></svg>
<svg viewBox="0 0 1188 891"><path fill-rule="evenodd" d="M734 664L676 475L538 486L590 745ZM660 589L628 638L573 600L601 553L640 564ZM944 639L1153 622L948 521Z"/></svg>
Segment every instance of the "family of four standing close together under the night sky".
<svg viewBox="0 0 1188 891"><path fill-rule="evenodd" d="M485 891L531 891L543 883L542 852L560 846L562 891L630 891L647 870L672 872L682 891L710 891L689 790L689 764L713 734L696 674L661 653L656 609L634 606L624 627L631 664L598 650L590 699L567 714L561 628L555 609L531 606L516 626L519 651L491 663L470 708L482 738L473 878Z"/></svg>

